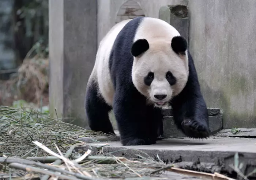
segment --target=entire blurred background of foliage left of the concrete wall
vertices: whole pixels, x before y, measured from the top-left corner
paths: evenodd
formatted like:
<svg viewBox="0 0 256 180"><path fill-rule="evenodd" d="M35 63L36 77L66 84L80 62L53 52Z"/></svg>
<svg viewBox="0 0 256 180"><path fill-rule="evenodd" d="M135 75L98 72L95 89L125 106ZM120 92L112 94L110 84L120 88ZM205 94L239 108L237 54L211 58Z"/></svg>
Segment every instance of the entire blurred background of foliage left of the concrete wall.
<svg viewBox="0 0 256 180"><path fill-rule="evenodd" d="M11 13L0 13L0 32L11 37L3 44L14 53L15 65L6 69L0 61L0 105L44 107L47 112L48 0L7 1L2 4L11 8Z"/></svg>

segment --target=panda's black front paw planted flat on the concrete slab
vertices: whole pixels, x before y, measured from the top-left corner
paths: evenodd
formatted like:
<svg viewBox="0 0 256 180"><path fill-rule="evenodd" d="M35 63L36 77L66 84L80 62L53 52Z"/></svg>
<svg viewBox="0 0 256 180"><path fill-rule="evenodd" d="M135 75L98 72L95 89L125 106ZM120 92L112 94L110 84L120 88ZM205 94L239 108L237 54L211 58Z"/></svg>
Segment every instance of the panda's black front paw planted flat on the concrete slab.
<svg viewBox="0 0 256 180"><path fill-rule="evenodd" d="M138 145L155 144L156 142L149 138L142 139L142 138L137 138L137 137L129 137L129 138L122 139L121 143L123 146L138 146Z"/></svg>

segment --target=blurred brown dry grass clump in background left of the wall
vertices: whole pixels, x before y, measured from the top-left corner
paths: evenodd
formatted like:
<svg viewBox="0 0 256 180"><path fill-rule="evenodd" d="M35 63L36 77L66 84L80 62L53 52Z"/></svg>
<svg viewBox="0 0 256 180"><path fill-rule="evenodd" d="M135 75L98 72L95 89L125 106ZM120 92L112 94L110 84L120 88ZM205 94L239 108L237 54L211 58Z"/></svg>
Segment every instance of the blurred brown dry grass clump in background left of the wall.
<svg viewBox="0 0 256 180"><path fill-rule="evenodd" d="M10 105L10 101L23 99L39 106L40 101L48 102L48 68L49 59L41 50L41 44L36 43L18 71L7 81L0 84L0 103Z"/></svg>

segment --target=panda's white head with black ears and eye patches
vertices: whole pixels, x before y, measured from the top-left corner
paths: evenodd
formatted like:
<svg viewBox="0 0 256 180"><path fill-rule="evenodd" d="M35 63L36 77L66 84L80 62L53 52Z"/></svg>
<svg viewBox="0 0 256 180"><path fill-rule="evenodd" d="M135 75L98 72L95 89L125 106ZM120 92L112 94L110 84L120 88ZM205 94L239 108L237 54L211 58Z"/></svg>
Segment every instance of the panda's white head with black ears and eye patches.
<svg viewBox="0 0 256 180"><path fill-rule="evenodd" d="M168 105L188 81L187 41L175 36L171 41L138 39L132 44L132 81L148 102Z"/></svg>

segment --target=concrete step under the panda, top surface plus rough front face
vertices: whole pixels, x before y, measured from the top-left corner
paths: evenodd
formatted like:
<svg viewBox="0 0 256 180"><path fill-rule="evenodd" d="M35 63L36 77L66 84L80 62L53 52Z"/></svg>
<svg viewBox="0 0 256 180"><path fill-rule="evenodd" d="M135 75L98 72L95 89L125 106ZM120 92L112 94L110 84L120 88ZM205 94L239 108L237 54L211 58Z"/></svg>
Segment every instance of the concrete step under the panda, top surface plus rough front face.
<svg viewBox="0 0 256 180"><path fill-rule="evenodd" d="M87 145L97 145L97 143L89 143L88 138L79 138L79 140L87 141ZM211 173L232 174L233 169L230 165L234 165L234 155L238 152L239 164L243 164L240 169L242 173L246 175L256 168L255 138L214 136L206 140L169 138L157 141L155 145L143 146L122 146L120 141L104 143L106 146L102 148L103 154L138 158L136 154L145 157L144 153L147 153L153 158L157 158L158 155L162 161L174 163L177 167ZM253 177L256 177L256 174Z"/></svg>

